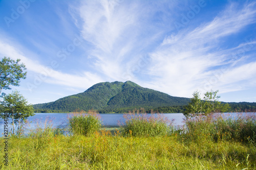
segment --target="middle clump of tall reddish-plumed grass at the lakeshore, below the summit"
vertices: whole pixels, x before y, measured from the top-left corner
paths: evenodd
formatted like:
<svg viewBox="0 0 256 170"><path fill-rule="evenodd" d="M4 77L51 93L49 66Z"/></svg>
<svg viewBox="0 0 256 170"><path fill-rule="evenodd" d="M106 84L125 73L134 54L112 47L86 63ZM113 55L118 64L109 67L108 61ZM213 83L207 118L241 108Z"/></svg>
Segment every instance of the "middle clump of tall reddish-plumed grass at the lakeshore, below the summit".
<svg viewBox="0 0 256 170"><path fill-rule="evenodd" d="M125 125L120 127L123 136L160 136L167 135L168 120L161 114L129 113L124 115Z"/></svg>

